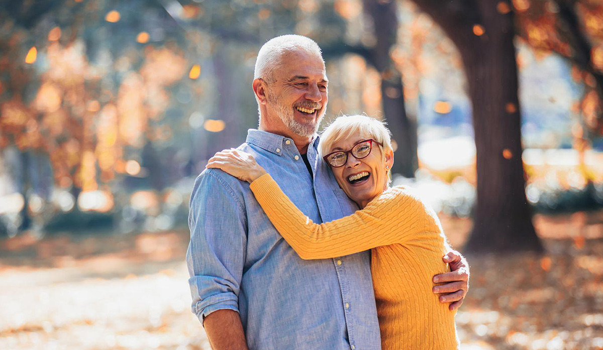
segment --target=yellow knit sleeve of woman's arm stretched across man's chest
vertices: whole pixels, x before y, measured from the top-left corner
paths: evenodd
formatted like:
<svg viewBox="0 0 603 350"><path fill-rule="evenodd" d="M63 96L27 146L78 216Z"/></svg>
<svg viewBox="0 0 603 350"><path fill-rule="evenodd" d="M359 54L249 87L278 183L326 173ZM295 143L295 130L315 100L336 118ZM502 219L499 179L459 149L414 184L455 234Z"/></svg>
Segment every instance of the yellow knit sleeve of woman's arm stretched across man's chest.
<svg viewBox="0 0 603 350"><path fill-rule="evenodd" d="M250 188L274 227L302 259L339 257L404 243L419 232L441 232L435 213L401 187L382 193L350 216L320 224L295 207L269 174L257 178Z"/></svg>

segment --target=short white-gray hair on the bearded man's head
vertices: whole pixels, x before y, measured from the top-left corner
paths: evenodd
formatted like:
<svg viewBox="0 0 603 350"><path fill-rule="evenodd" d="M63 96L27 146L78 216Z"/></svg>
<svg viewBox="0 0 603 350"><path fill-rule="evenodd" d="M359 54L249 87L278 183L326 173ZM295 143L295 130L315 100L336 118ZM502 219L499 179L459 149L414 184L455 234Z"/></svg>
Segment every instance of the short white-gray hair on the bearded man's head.
<svg viewBox="0 0 603 350"><path fill-rule="evenodd" d="M288 52L304 50L323 58L318 44L309 37L287 34L268 40L257 52L256 67L253 78L262 78L268 83L274 80L273 73L282 64L281 58Z"/></svg>

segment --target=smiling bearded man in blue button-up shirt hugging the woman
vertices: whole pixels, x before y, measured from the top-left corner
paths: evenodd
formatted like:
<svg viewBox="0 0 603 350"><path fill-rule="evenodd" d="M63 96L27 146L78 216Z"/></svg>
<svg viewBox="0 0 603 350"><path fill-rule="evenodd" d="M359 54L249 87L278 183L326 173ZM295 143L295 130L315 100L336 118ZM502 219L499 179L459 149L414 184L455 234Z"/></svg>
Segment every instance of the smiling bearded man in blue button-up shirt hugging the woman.
<svg viewBox="0 0 603 350"><path fill-rule="evenodd" d="M358 210L317 154L316 132L327 106L318 45L303 36L276 37L260 49L254 74L259 130L249 130L239 149L252 154L314 222ZM380 348L368 252L301 260L248 184L216 169L195 181L189 227L192 311L212 349ZM456 252L444 261L453 272L436 277L449 283L434 292L449 293L440 300L456 308L469 272Z"/></svg>

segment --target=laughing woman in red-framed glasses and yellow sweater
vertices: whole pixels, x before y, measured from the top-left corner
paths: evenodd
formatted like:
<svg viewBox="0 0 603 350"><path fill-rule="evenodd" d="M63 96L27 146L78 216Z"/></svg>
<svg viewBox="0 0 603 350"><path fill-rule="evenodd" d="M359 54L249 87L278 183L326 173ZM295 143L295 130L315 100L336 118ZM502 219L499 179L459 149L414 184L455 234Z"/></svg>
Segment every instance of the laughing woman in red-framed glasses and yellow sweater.
<svg viewBox="0 0 603 350"><path fill-rule="evenodd" d="M440 258L448 251L446 237L434 211L417 196L402 186L388 188L394 161L390 132L367 116L338 117L324 130L319 148L360 208L321 224L298 210L251 155L218 152L207 167L248 181L274 227L303 259L372 249L382 349L456 349L455 312L430 292L432 276L449 271Z"/></svg>

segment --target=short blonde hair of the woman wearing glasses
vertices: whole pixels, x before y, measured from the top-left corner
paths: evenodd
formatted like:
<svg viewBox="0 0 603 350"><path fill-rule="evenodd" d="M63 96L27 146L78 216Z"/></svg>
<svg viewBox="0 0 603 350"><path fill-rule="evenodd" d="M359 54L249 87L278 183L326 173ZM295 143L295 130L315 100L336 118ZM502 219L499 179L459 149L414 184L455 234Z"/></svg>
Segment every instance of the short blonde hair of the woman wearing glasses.
<svg viewBox="0 0 603 350"><path fill-rule="evenodd" d="M384 158L387 152L393 151L391 132L385 127L385 122L362 114L355 116L343 115L333 120L321 133L320 143L318 144L321 157L330 153L333 144L348 139L356 133L367 137L367 139L382 143L383 147L379 147L381 147L381 154ZM388 177L391 179L390 172L388 172Z"/></svg>

